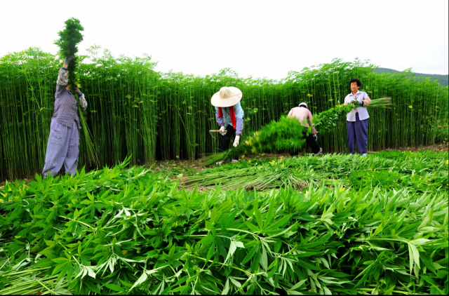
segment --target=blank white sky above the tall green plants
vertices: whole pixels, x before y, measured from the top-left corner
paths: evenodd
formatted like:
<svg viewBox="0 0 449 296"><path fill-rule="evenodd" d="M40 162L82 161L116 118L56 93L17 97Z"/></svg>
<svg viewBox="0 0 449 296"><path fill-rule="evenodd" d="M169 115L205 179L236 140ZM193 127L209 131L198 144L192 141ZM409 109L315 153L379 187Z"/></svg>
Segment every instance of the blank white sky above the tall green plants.
<svg viewBox="0 0 449 296"><path fill-rule="evenodd" d="M84 27L79 53L150 55L159 72L282 79L290 70L370 60L448 74L448 0L0 0L0 57L30 46L56 54L65 20Z"/></svg>

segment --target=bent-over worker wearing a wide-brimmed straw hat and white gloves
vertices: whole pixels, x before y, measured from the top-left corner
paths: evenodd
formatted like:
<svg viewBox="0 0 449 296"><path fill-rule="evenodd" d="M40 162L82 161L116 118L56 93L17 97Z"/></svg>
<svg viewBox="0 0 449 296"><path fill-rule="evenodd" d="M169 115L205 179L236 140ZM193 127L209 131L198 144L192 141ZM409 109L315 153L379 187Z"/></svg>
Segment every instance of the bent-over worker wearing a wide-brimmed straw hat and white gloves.
<svg viewBox="0 0 449 296"><path fill-rule="evenodd" d="M224 152L229 149L231 138L234 137L234 147L239 146L240 135L243 131L243 109L240 105L242 97L241 90L234 86L224 86L220 91L215 93L210 102L215 106L217 123L220 126L220 139L218 149ZM238 157L232 159L232 163L236 163ZM217 164L222 164L223 161Z"/></svg>

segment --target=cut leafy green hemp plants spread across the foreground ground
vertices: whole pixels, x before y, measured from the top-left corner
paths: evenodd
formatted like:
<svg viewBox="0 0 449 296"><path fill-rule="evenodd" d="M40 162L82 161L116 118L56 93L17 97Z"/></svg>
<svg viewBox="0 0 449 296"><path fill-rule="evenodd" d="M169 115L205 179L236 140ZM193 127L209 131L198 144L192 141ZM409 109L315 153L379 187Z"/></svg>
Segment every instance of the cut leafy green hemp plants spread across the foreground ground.
<svg viewBox="0 0 449 296"><path fill-rule="evenodd" d="M75 177L6 183L0 294L447 294L447 153L348 157L202 171L206 180L288 165L348 182L310 182L302 191L230 190L225 180L179 189L177 179L128 167L129 159ZM401 176L373 182L394 174Z"/></svg>

